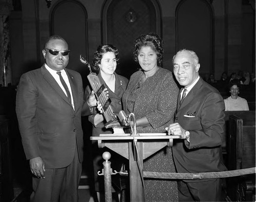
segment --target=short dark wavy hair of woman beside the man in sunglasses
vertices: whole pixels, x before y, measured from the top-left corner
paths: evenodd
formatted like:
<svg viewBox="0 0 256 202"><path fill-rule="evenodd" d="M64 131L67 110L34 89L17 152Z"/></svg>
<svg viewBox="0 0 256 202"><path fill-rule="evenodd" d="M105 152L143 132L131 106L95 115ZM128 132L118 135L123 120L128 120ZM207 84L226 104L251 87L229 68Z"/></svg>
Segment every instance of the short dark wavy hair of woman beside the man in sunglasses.
<svg viewBox="0 0 256 202"><path fill-rule="evenodd" d="M111 45L111 44L99 45L93 55L92 70L94 72L96 72L96 73L99 72L100 61L101 61L103 55L108 52L114 53L116 56L116 61L119 60L119 52L118 52L118 49L114 45Z"/></svg>

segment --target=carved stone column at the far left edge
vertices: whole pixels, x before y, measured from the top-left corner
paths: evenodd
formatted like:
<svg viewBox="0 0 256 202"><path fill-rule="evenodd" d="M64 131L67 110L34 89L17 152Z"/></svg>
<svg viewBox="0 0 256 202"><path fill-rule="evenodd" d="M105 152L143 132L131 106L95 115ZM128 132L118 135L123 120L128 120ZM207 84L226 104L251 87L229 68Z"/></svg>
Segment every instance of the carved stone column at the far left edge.
<svg viewBox="0 0 256 202"><path fill-rule="evenodd" d="M9 38L9 14L11 10L11 0L0 0L0 86L8 86L9 83L12 83Z"/></svg>

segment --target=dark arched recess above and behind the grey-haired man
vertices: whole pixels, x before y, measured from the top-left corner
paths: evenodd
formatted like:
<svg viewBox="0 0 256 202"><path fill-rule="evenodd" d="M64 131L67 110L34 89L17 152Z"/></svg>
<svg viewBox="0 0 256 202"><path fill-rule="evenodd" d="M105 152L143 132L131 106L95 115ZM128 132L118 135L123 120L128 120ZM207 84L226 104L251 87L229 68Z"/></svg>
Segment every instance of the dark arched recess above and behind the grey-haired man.
<svg viewBox="0 0 256 202"><path fill-rule="evenodd" d="M179 3L176 10L176 49L191 49L196 52L201 64L200 74L214 73L212 10L205 0Z"/></svg>

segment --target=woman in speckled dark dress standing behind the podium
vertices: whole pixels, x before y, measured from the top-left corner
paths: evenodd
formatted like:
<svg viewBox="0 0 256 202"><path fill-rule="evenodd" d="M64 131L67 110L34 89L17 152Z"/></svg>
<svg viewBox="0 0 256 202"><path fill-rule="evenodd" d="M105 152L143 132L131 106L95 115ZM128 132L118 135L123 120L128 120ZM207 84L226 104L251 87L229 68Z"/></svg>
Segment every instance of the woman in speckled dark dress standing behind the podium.
<svg viewBox="0 0 256 202"><path fill-rule="evenodd" d="M174 120L179 88L172 72L161 67L162 44L155 33L141 35L134 42L134 60L141 69L132 74L122 102L126 114L135 114L138 133L165 133ZM145 159L143 170L175 172L172 148ZM144 186L145 201L178 201L176 181L145 179Z"/></svg>

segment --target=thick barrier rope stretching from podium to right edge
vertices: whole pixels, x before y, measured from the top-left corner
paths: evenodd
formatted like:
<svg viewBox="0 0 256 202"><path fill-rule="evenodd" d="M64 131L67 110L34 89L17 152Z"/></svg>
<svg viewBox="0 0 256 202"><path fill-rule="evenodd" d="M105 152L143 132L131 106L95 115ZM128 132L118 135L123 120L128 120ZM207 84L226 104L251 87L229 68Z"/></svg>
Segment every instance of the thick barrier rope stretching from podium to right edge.
<svg viewBox="0 0 256 202"><path fill-rule="evenodd" d="M229 170L222 172L200 172L200 173L169 173L169 172L143 172L144 178L158 178L158 179L214 179L214 178L230 178L233 176L240 176L246 174L256 173L256 167L245 168L240 170Z"/></svg>

